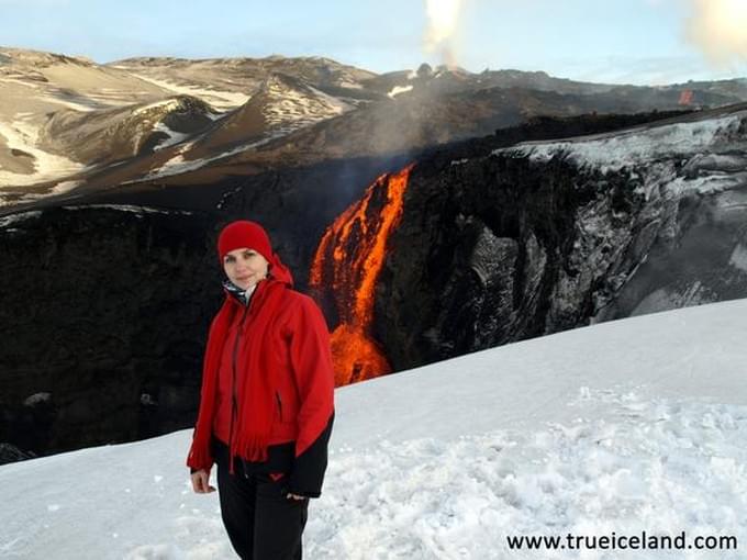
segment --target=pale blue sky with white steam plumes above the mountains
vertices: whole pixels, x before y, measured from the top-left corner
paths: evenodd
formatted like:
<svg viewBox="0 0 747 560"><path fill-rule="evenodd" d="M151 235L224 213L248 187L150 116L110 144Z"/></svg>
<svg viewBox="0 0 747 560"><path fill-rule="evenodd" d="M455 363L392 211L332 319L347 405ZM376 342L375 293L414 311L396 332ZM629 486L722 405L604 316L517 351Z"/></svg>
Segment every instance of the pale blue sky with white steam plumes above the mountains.
<svg viewBox="0 0 747 560"><path fill-rule="evenodd" d="M428 4L450 13L441 42ZM99 63L281 54L376 72L427 61L631 83L747 77L747 0L0 0L0 45Z"/></svg>

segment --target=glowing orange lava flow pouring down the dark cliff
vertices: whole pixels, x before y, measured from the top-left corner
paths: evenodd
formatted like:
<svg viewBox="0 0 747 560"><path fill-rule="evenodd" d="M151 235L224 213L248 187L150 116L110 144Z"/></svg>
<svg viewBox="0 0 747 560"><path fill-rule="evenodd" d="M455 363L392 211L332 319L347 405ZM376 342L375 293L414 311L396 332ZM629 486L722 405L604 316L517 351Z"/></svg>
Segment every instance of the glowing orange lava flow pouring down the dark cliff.
<svg viewBox="0 0 747 560"><path fill-rule="evenodd" d="M374 181L363 199L327 228L312 261L309 284L331 290L339 316L332 333L335 384L349 384L391 372L371 337L374 292L387 240L402 216L412 165Z"/></svg>

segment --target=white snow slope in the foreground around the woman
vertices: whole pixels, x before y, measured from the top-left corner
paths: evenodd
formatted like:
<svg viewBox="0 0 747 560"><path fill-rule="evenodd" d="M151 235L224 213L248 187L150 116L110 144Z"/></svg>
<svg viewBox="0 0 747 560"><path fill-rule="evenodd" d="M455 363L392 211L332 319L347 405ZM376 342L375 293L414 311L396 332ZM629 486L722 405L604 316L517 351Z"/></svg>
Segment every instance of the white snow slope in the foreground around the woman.
<svg viewBox="0 0 747 560"><path fill-rule="evenodd" d="M633 317L338 389L305 557L744 559L510 550L506 538L685 531L744 549L745 317L747 300ZM235 558L216 493L190 490L190 438L0 467L0 555Z"/></svg>

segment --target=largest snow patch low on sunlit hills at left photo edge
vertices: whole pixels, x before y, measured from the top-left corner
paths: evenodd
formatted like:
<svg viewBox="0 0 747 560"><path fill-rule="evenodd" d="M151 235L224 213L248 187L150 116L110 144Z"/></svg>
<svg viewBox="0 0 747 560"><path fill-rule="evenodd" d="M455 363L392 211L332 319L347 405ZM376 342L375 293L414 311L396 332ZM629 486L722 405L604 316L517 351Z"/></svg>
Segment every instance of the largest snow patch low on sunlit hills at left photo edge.
<svg viewBox="0 0 747 560"><path fill-rule="evenodd" d="M23 121L13 121L10 124L0 122L0 136L4 136L10 149L19 149L34 157L33 173L12 173L0 170L0 187L25 187L66 175L73 175L85 168L83 165L73 161L63 156L49 154L36 147L38 130Z"/></svg>

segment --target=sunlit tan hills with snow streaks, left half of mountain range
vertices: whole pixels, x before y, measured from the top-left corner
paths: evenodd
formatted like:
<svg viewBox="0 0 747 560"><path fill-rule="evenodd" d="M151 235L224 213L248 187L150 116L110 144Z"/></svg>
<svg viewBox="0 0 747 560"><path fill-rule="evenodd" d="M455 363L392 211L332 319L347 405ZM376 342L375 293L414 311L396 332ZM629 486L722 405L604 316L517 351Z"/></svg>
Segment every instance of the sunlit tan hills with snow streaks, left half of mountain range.
<svg viewBox="0 0 747 560"><path fill-rule="evenodd" d="M216 134L219 144L235 138L253 145L257 134L260 139L287 134L360 103L367 94L359 82L371 76L319 57L143 58L97 65L0 47L0 205L67 192L91 175L103 175L111 188L133 176L170 175L175 158L211 161L221 153L198 150L190 157L183 146L155 152L202 138L208 119L215 121L249 100L226 121L228 131ZM244 131L245 113L256 111L267 120L266 130ZM153 160L143 164L144 154L153 154ZM124 161L131 165L125 173ZM153 171L161 166L167 169Z"/></svg>

